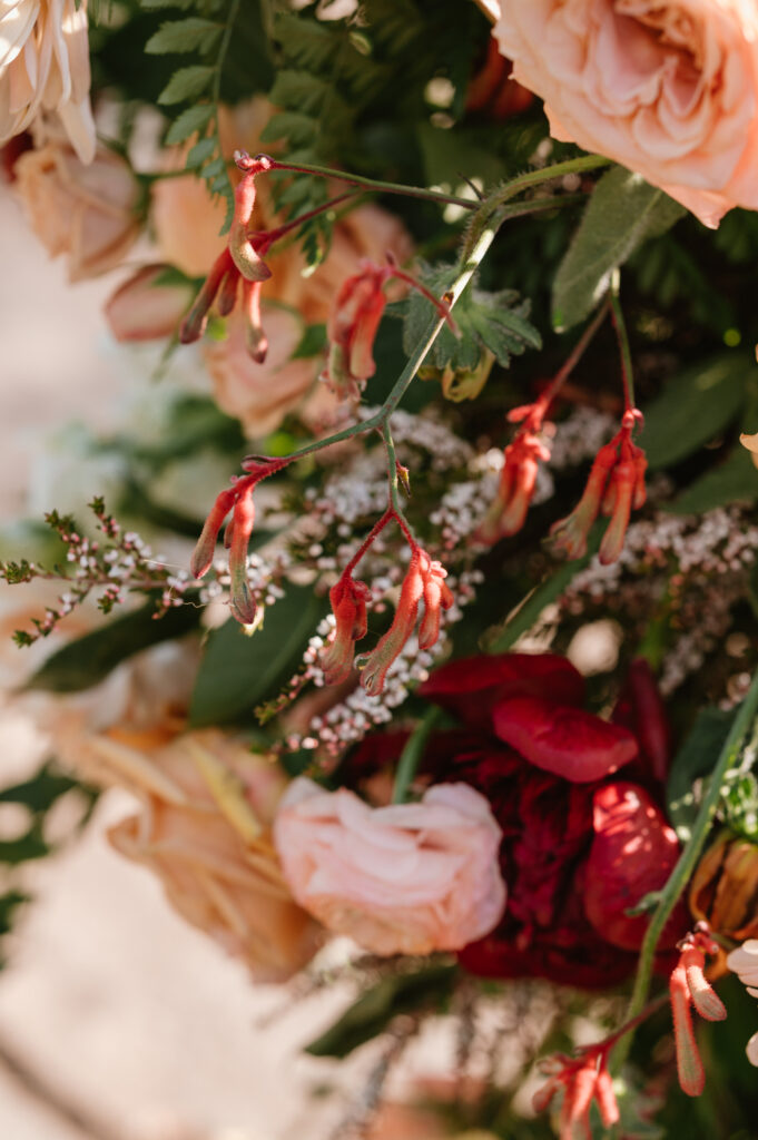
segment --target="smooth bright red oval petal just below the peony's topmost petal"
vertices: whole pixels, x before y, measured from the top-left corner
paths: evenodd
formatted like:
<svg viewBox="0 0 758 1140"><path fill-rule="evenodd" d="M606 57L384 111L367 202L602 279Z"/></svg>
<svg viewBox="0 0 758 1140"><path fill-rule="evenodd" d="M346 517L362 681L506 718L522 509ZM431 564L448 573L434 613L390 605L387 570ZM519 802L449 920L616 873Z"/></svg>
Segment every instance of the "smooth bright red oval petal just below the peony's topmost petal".
<svg viewBox="0 0 758 1140"><path fill-rule="evenodd" d="M637 742L626 728L552 700L503 701L492 719L500 740L538 768L573 783L602 780L637 755Z"/></svg>

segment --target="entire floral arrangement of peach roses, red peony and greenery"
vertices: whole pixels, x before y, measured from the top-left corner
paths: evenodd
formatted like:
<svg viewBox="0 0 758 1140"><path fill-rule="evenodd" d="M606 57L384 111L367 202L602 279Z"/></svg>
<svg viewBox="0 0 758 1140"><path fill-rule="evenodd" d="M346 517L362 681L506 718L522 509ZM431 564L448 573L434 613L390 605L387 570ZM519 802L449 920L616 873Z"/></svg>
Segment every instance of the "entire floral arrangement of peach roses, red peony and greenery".
<svg viewBox="0 0 758 1140"><path fill-rule="evenodd" d="M307 1045L376 1058L335 1134L752 1135L756 6L0 30L30 242L114 275L137 393L2 538L55 763L1 792L0 935L57 798L117 787L254 983L354 988Z"/></svg>

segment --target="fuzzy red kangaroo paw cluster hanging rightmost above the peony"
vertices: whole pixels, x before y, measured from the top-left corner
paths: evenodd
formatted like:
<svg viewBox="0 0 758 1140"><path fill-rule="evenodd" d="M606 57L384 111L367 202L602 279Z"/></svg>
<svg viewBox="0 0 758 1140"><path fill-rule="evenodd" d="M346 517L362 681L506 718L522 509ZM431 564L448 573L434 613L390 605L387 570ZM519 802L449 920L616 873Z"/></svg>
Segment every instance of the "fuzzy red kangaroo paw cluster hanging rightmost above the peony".
<svg viewBox="0 0 758 1140"><path fill-rule="evenodd" d="M642 448L631 442L633 432L641 422L642 414L636 408L625 412L618 433L601 447L579 503L571 514L551 528L555 551L562 551L570 559L581 557L602 510L611 521L601 542L600 561L608 565L620 555L631 510L645 503L647 461Z"/></svg>

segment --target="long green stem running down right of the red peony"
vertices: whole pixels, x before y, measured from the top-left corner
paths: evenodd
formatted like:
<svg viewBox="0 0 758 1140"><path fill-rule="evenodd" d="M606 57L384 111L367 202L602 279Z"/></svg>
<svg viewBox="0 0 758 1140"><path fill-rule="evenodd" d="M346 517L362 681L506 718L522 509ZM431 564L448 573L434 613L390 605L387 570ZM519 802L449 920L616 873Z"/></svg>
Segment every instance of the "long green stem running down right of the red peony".
<svg viewBox="0 0 758 1140"><path fill-rule="evenodd" d="M635 978L631 1000L627 1011L627 1020L631 1020L637 1017L647 1000L655 947L658 946L663 928L677 904L679 895L684 890L690 876L695 869L703 844L706 842L706 838L714 822L718 803L722 798L724 779L730 768L734 767L737 756L740 755L740 749L742 748L748 732L752 728L757 715L758 670L756 670L748 695L740 706L740 711L734 718L726 743L724 744L718 760L716 762L716 767L711 773L708 791L702 804L700 805L700 811L698 812L698 816L692 825L690 839L684 847L674 871L669 876L668 882L661 893L660 902L655 907L652 919L650 920L650 926L647 927L647 933L645 934L645 939L642 944L642 951L639 953L639 964L637 967L637 976ZM617 1066L621 1065L623 1057L626 1057L629 1049L629 1044L630 1039L627 1039L622 1053L621 1050L619 1050L621 1056L616 1059Z"/></svg>

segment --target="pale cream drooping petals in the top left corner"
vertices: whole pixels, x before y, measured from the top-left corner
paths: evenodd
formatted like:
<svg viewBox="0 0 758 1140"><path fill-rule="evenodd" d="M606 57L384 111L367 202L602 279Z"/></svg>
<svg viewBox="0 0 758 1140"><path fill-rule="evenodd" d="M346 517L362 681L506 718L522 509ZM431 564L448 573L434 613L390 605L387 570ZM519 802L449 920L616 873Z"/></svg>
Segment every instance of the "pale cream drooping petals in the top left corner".
<svg viewBox="0 0 758 1140"><path fill-rule="evenodd" d="M0 144L56 113L80 160L95 157L87 0L0 0Z"/></svg>

